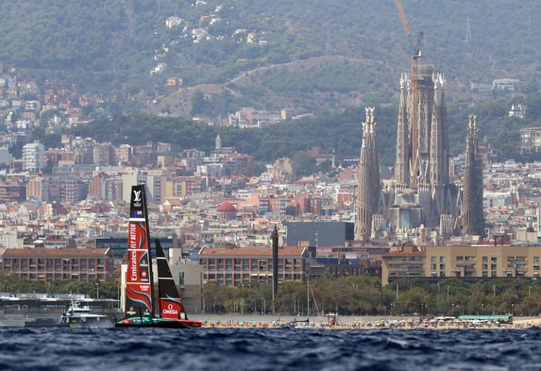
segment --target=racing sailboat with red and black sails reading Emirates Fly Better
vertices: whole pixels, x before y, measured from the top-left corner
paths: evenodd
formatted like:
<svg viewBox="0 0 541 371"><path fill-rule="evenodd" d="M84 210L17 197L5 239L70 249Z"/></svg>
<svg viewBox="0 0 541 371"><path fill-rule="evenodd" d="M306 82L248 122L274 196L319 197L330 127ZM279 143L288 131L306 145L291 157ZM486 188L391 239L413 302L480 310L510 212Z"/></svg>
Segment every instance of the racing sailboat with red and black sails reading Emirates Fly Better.
<svg viewBox="0 0 541 371"><path fill-rule="evenodd" d="M176 329L201 327L201 321L188 320L166 256L157 239L158 303L156 303L151 255L147 195L144 185L132 186L128 223L125 317L115 322L115 327Z"/></svg>

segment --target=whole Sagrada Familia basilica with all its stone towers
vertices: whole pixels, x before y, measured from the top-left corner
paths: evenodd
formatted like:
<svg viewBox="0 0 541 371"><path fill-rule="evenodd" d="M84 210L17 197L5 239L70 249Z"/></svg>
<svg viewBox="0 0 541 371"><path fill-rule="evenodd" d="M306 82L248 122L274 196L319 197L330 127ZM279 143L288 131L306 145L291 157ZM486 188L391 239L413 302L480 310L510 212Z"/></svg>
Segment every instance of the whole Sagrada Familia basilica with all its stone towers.
<svg viewBox="0 0 541 371"><path fill-rule="evenodd" d="M423 225L452 235L483 236L483 161L478 153L476 116L468 122L466 165L462 189L449 182L449 137L444 75L433 65L419 65L411 80L400 78L397 122L397 157L394 180L380 182L375 140L374 108L366 108L361 155L357 172L355 239L368 241L380 229L408 231ZM412 114L414 113L414 114Z"/></svg>

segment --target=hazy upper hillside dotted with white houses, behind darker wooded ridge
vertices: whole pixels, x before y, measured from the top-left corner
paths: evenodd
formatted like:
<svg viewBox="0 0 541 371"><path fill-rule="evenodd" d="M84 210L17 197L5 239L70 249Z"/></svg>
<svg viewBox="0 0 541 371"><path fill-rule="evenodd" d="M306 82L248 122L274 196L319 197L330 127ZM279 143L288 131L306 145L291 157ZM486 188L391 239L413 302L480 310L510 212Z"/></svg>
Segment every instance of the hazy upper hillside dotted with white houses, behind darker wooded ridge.
<svg viewBox="0 0 541 371"><path fill-rule="evenodd" d="M449 100L476 99L468 92L473 80L509 76L537 87L536 1L403 3L413 32L425 33L423 62L447 75ZM181 21L167 27L171 16ZM232 96L211 96L222 114L243 105L295 113L394 105L397 73L410 63L391 0L3 1L0 44L1 63L83 90L150 99L156 103L140 107L155 113L192 99L166 89L170 76L193 92L199 84L227 87ZM306 62L288 64L295 61ZM151 75L157 63L167 66Z"/></svg>

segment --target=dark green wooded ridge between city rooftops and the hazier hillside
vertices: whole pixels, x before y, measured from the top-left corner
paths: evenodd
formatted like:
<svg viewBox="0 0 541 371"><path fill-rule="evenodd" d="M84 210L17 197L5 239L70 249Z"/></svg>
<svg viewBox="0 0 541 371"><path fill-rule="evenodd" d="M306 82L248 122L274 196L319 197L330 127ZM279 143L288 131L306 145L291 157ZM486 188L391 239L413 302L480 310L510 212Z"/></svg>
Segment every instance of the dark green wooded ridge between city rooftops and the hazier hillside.
<svg viewBox="0 0 541 371"><path fill-rule="evenodd" d="M495 144L499 158L517 160L541 160L541 153L528 158L518 153L521 127L538 125L541 115L541 95L533 94L526 100L529 118L509 118L506 108L516 102L513 96L503 96L496 101L473 103L464 109L449 110L449 145L452 156L464 153L466 146L466 124L468 113L478 115L480 138ZM281 125L272 125L261 130L218 127L195 123L182 118L158 118L140 113L118 114L111 118L98 118L89 125L73 131L84 137L92 136L101 142L115 144L144 144L161 141L173 144L173 150L198 148L210 151L214 138L220 134L225 146L235 146L237 151L253 155L257 161L271 162L281 156L294 156L297 151L320 147L325 151L335 149L339 158L359 156L361 146L361 121L364 110L349 108L339 114L327 114L317 118L291 120ZM381 165L394 165L397 108L376 106L377 141ZM48 137L49 145L59 137Z"/></svg>

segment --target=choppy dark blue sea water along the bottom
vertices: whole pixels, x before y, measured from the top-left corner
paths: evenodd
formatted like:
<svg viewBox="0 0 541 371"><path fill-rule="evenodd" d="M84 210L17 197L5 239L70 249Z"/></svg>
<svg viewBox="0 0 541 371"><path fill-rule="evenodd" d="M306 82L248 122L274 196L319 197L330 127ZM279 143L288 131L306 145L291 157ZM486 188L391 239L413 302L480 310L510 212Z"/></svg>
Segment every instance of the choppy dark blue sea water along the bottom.
<svg viewBox="0 0 541 371"><path fill-rule="evenodd" d="M0 329L0 370L541 370L541 329Z"/></svg>

